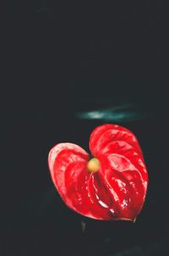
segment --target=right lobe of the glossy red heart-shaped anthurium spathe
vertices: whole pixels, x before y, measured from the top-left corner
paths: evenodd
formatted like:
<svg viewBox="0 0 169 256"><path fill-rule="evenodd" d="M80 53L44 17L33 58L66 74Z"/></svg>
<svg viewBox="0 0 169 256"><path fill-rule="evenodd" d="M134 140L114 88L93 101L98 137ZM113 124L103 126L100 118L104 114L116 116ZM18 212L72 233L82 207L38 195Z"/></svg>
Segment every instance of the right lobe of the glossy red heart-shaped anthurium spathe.
<svg viewBox="0 0 169 256"><path fill-rule="evenodd" d="M118 125L101 125L90 136L90 150L114 198L120 220L134 220L144 204L148 175L139 142Z"/></svg>

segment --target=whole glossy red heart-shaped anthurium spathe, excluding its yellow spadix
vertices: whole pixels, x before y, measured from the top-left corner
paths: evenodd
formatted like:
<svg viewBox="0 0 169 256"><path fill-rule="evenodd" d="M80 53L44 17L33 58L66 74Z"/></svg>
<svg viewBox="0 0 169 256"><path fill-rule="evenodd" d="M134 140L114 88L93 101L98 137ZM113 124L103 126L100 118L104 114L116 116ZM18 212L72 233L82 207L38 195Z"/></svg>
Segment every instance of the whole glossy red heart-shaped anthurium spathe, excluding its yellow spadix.
<svg viewBox="0 0 169 256"><path fill-rule="evenodd" d="M59 143L49 153L52 181L64 203L97 220L134 220L143 207L148 174L134 134L119 125L101 125L90 135L90 156L73 143Z"/></svg>

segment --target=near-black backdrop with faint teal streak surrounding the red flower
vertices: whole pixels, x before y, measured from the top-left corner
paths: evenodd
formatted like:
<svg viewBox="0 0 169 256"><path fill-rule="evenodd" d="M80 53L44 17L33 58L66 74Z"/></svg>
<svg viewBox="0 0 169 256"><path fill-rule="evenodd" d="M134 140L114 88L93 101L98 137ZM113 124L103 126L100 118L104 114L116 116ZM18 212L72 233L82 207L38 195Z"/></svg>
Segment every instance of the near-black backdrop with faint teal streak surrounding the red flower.
<svg viewBox="0 0 169 256"><path fill-rule="evenodd" d="M55 2L1 3L0 255L166 255L165 7ZM89 151L103 123L134 131L143 149L150 184L134 224L74 213L49 175L53 145Z"/></svg>

